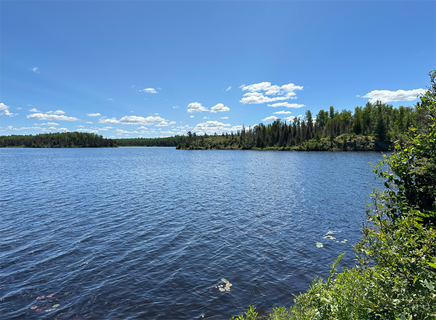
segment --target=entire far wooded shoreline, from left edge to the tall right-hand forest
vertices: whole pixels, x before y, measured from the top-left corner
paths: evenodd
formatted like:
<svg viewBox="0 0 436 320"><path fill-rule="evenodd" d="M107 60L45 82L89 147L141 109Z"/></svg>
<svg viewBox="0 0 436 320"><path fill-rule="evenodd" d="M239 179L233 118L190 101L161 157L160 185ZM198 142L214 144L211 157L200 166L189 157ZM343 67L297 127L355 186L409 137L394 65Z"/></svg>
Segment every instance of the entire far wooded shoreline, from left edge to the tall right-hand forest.
<svg viewBox="0 0 436 320"><path fill-rule="evenodd" d="M389 151L395 141L404 141L410 127L420 127L420 115L414 107L393 108L376 101L354 112L330 107L315 118L306 111L304 118L292 123L276 119L236 132L208 135L188 131L186 135L165 138L107 139L85 132L55 132L37 135L0 136L0 147L117 147L170 146L176 149L251 149L298 151Z"/></svg>

